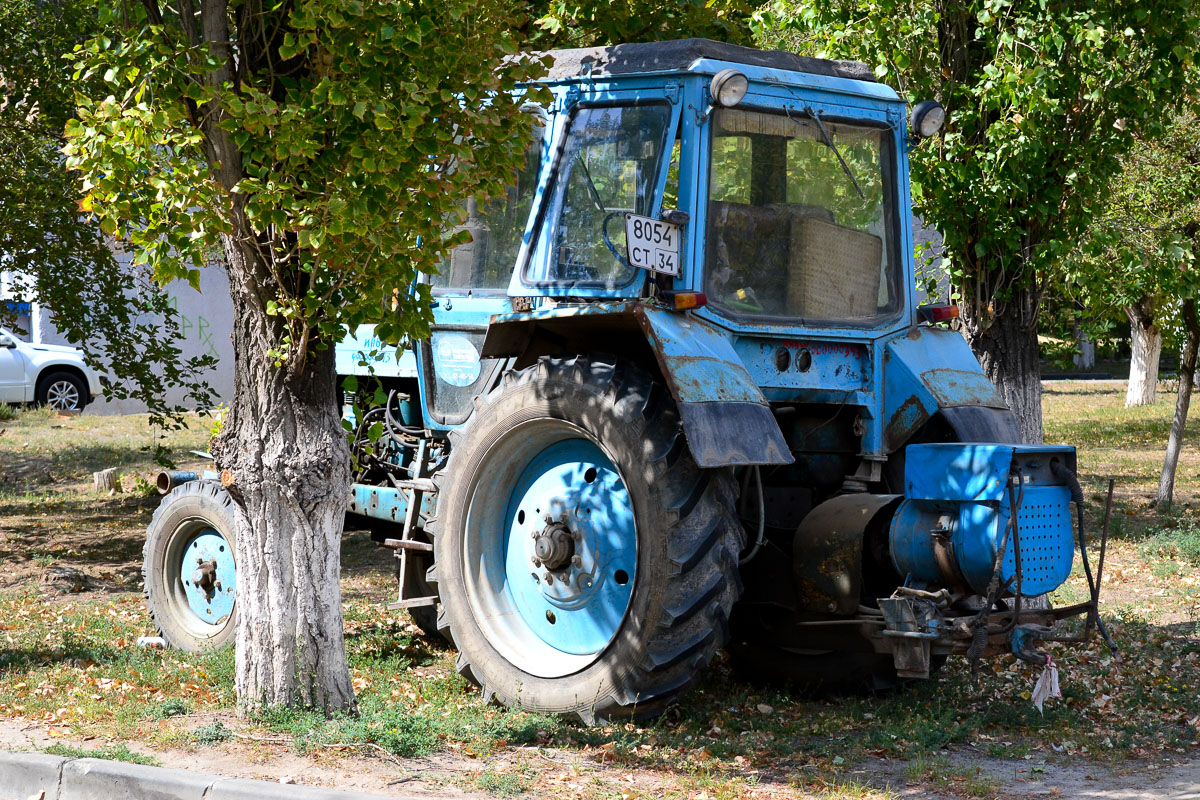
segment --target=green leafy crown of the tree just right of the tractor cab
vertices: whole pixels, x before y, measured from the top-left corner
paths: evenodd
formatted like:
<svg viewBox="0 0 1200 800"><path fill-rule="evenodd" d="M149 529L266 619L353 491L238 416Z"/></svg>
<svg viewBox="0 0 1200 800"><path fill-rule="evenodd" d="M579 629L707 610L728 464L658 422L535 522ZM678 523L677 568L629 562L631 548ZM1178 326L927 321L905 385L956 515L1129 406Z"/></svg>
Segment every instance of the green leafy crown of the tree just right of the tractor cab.
<svg viewBox="0 0 1200 800"><path fill-rule="evenodd" d="M946 106L943 134L911 156L914 210L944 237L968 324L1016 314L1031 331L1121 155L1187 90L1196 22L1190 0L776 0L757 17L767 42L862 59ZM1019 289L1032 307L1009 307Z"/></svg>

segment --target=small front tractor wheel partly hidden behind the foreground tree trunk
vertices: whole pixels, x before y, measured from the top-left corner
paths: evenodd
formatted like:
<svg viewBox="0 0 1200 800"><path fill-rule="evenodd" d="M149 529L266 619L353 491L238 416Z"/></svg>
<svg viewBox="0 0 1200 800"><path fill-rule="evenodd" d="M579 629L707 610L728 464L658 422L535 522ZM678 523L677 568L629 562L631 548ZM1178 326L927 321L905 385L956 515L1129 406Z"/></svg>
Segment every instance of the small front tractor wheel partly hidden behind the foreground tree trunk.
<svg viewBox="0 0 1200 800"><path fill-rule="evenodd" d="M214 481L190 481L162 499L142 552L150 616L187 652L229 643L236 627L233 498Z"/></svg>

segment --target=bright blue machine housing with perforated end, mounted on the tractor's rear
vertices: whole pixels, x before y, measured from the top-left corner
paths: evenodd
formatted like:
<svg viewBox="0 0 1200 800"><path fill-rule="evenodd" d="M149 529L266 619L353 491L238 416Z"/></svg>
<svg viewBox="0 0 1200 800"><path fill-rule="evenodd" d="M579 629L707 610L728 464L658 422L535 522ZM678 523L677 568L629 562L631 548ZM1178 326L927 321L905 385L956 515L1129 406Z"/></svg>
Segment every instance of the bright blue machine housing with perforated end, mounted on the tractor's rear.
<svg viewBox="0 0 1200 800"><path fill-rule="evenodd" d="M1070 575L1075 540L1070 491L1046 479L1051 458L1074 461L1074 449L1052 445L910 445L905 500L892 519L892 560L900 576L923 585L965 583L984 594L996 553L1007 539L1001 587L1021 594L1052 591ZM1025 470L1028 470L1028 474ZM1009 483L1018 504L1014 546ZM942 551L940 558L938 551ZM954 564L947 575L947 564Z"/></svg>

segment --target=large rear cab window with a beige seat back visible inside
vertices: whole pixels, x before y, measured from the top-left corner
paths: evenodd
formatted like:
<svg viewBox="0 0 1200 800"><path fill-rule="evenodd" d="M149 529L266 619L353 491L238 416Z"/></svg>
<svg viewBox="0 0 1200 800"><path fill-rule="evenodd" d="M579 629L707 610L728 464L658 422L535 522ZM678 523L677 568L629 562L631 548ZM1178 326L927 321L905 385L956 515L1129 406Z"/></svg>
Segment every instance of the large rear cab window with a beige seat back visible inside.
<svg viewBox="0 0 1200 800"><path fill-rule="evenodd" d="M713 121L709 302L734 317L851 325L894 317L890 131L736 108Z"/></svg>

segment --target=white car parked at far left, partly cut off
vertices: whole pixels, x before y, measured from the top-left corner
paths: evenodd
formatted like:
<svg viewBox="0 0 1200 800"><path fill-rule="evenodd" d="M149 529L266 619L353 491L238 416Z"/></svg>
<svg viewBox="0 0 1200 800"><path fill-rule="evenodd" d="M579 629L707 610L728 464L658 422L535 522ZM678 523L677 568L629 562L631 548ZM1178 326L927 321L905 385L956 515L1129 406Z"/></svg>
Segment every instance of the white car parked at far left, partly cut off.
<svg viewBox="0 0 1200 800"><path fill-rule="evenodd" d="M83 360L83 350L56 344L30 344L0 327L0 403L37 403L83 410L103 395L98 372Z"/></svg>

